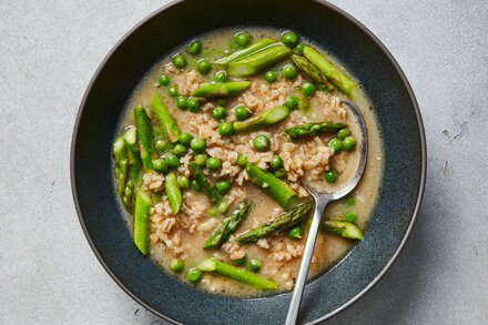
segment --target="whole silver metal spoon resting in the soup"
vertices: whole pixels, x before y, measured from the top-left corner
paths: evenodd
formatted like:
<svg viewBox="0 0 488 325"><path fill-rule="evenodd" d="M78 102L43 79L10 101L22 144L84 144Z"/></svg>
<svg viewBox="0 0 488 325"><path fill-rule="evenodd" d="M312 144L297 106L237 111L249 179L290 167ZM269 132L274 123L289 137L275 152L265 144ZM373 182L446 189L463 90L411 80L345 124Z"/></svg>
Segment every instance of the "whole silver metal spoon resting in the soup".
<svg viewBox="0 0 488 325"><path fill-rule="evenodd" d="M321 219L325 206L329 202L344 197L350 191L353 191L359 182L360 177L363 176L363 172L366 166L368 141L363 115L360 114L356 105L354 105L352 102L343 102L350 106L354 115L359 121L360 133L363 138L360 145L358 145L358 150L360 151L359 163L357 164L357 170L349 182L336 192L321 193L302 182L304 187L311 193L311 195L315 200L315 212L312 220L311 230L308 231L307 243L303 253L302 263L299 264L298 276L296 277L295 288L293 291L292 302L289 303L288 314L286 315L286 325L294 325L298 316L299 303L302 302L303 290L308 275L308 267L311 266L312 254L314 253L315 240L317 238L318 226L321 224Z"/></svg>

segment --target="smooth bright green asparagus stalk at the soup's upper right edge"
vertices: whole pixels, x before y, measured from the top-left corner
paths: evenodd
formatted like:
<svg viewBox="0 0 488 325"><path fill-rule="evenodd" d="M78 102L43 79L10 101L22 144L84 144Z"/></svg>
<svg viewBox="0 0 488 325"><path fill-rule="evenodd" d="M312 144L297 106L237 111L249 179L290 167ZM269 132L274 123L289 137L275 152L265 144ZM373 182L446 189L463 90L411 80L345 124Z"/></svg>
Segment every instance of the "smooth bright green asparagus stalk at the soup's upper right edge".
<svg viewBox="0 0 488 325"><path fill-rule="evenodd" d="M313 48L305 45L303 54L313 64L317 65L318 69L331 80L338 89L344 91L349 98L354 99L356 94L356 84L350 81L344 73L342 73L334 64L327 61Z"/></svg>

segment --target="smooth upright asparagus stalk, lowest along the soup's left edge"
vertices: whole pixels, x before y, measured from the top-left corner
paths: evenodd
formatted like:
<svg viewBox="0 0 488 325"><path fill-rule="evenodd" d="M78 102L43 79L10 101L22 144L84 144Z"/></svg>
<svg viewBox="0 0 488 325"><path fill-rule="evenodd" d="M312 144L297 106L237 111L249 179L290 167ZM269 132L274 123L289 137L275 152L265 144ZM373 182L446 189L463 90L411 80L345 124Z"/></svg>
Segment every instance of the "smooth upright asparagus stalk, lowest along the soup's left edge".
<svg viewBox="0 0 488 325"><path fill-rule="evenodd" d="M139 189L135 193L134 242L144 255L149 253L149 220L151 205L151 196Z"/></svg>

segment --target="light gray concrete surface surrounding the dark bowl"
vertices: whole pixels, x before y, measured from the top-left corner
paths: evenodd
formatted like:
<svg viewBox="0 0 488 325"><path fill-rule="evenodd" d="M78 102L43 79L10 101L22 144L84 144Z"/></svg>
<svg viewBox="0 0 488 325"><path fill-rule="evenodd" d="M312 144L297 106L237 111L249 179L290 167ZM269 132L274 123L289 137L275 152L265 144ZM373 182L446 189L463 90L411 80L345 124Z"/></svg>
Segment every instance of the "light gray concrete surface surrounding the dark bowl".
<svg viewBox="0 0 488 325"><path fill-rule="evenodd" d="M163 324L92 254L69 151L96 67L165 2L0 1L0 324ZM488 2L333 2L376 33L409 79L428 179L397 262L329 324L487 324Z"/></svg>

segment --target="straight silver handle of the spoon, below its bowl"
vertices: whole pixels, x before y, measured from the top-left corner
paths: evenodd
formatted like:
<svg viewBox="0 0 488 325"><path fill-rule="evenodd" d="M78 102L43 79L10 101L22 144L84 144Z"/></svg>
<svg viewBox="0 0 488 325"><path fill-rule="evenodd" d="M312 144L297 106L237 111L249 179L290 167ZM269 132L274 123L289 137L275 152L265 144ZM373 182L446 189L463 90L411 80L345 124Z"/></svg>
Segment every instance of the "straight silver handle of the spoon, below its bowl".
<svg viewBox="0 0 488 325"><path fill-rule="evenodd" d="M302 302L303 290L308 275L308 268L314 253L315 240L317 238L318 226L321 225L322 213L327 205L328 200L315 200L315 212L308 231L307 243L303 252L299 264L298 276L296 277L295 288L293 291L292 302L289 303L288 314L286 315L286 325L295 325L298 316L299 303Z"/></svg>

